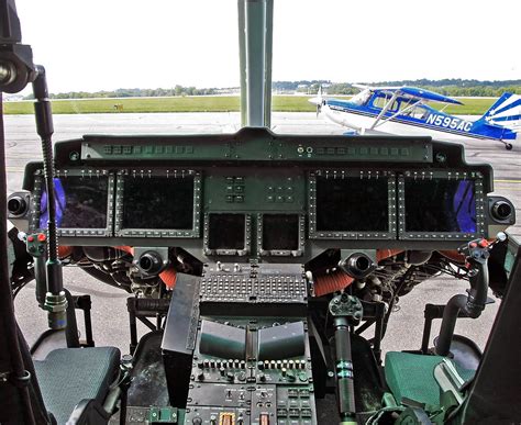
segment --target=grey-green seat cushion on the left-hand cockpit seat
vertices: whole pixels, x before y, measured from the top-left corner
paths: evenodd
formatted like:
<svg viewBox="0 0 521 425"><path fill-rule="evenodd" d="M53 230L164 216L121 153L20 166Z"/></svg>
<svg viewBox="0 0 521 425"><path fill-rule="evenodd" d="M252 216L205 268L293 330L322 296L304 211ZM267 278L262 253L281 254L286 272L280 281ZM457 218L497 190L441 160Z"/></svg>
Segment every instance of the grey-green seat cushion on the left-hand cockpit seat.
<svg viewBox="0 0 521 425"><path fill-rule="evenodd" d="M106 398L120 364L115 347L60 348L45 360L34 361L36 378L47 411L65 424L84 399Z"/></svg>

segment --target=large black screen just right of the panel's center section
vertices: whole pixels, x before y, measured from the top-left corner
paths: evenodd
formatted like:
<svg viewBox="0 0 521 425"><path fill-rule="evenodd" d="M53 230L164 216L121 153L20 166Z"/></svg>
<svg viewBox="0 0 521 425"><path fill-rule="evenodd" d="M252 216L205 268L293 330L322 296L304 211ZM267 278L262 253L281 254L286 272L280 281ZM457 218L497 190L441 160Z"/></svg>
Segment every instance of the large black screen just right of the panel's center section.
<svg viewBox="0 0 521 425"><path fill-rule="evenodd" d="M388 232L388 180L317 178L317 231Z"/></svg>

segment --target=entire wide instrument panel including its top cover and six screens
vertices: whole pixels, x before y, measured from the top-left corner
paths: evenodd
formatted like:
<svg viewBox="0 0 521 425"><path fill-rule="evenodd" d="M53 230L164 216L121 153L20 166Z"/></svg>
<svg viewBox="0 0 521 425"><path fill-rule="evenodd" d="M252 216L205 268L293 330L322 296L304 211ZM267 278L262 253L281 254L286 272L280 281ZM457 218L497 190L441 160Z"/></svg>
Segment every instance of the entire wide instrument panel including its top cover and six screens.
<svg viewBox="0 0 521 425"><path fill-rule="evenodd" d="M489 236L488 226L498 224L487 208L491 168L467 165L459 145L262 128L228 137L151 136L144 146L142 137L86 136L58 144L63 243L302 261L326 248L453 247ZM29 230L43 230L38 164L27 166L25 189Z"/></svg>

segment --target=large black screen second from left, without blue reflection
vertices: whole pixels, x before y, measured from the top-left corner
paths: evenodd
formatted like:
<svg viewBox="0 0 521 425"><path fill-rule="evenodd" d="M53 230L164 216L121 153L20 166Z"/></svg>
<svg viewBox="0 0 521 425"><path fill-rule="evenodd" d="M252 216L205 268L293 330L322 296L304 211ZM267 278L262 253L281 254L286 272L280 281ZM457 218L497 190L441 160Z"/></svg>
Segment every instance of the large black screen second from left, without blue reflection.
<svg viewBox="0 0 521 425"><path fill-rule="evenodd" d="M193 228L193 177L125 177L122 228Z"/></svg>

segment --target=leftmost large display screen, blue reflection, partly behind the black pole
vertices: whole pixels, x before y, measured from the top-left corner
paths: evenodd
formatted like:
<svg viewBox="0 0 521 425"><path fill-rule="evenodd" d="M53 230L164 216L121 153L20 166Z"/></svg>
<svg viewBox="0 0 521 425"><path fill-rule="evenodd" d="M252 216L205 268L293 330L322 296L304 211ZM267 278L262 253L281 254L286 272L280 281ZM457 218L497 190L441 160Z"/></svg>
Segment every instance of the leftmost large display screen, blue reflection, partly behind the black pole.
<svg viewBox="0 0 521 425"><path fill-rule="evenodd" d="M59 228L106 228L108 177L68 176L54 179L56 224ZM40 201L40 228L47 228L47 191Z"/></svg>

